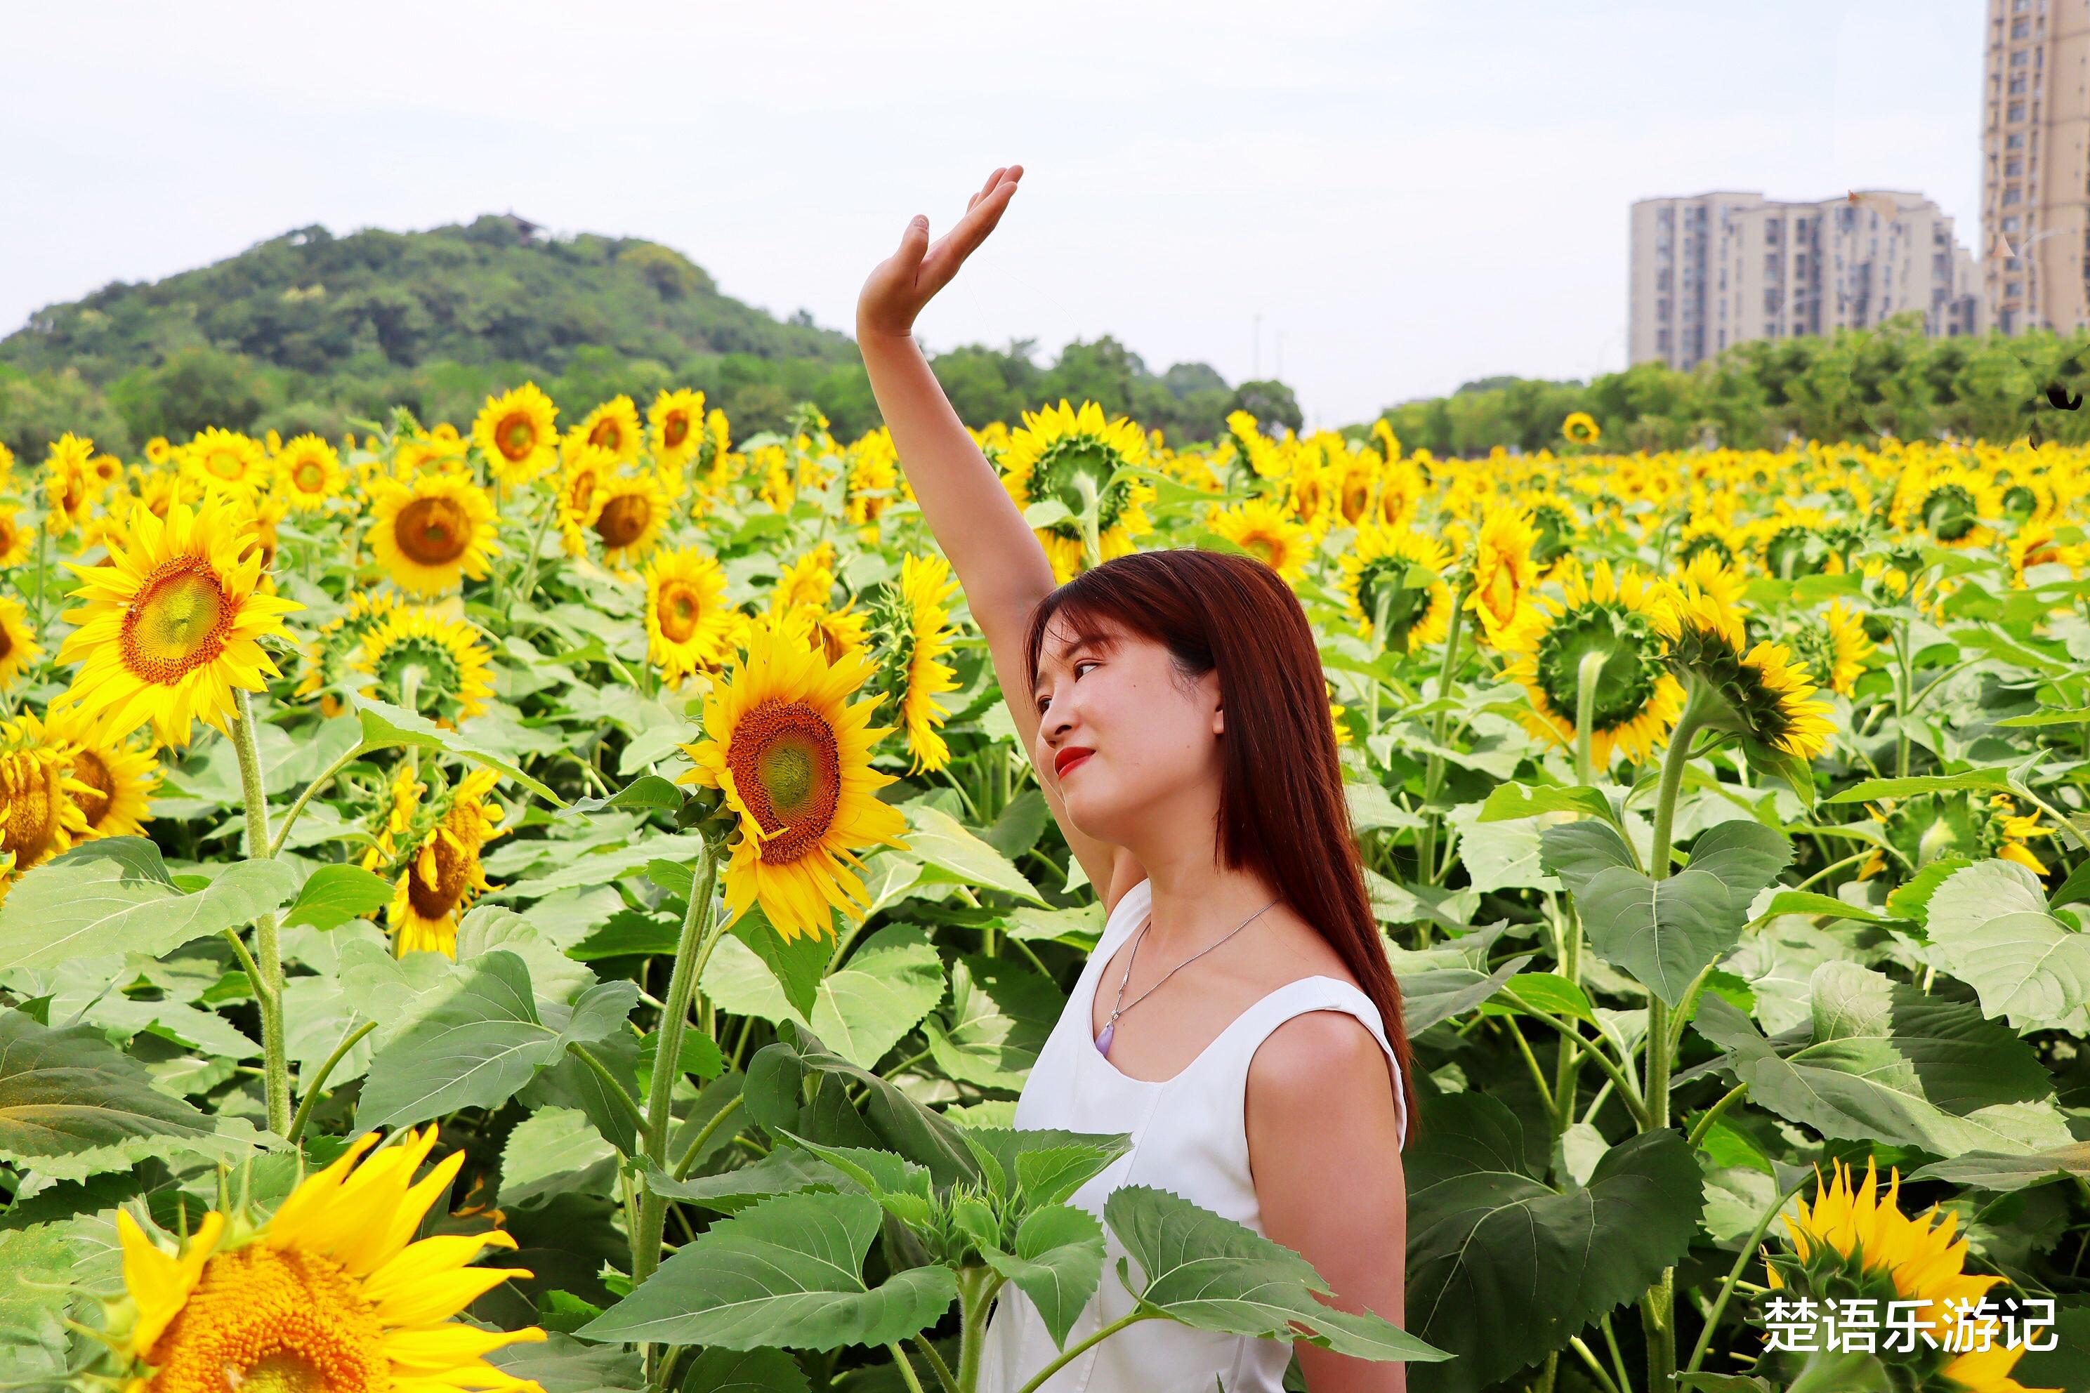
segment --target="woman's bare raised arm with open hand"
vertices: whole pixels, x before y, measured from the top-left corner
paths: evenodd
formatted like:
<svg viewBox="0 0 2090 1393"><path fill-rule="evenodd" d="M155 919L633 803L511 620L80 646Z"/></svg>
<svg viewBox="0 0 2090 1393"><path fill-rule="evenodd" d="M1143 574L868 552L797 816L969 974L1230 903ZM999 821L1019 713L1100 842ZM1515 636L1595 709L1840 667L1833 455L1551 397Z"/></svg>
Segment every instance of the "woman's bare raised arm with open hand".
<svg viewBox="0 0 2090 1393"><path fill-rule="evenodd" d="M957 226L934 242L928 217L907 223L899 251L872 269L857 297L857 347L901 468L986 635L1009 716L1037 769L1039 710L1026 687L1022 645L1030 612L1053 589L1051 562L913 340L915 315L995 230L1022 173L1022 165L995 169ZM1078 831L1066 817L1060 781L1043 769L1037 775L1074 858L1097 894L1108 896L1118 848Z"/></svg>

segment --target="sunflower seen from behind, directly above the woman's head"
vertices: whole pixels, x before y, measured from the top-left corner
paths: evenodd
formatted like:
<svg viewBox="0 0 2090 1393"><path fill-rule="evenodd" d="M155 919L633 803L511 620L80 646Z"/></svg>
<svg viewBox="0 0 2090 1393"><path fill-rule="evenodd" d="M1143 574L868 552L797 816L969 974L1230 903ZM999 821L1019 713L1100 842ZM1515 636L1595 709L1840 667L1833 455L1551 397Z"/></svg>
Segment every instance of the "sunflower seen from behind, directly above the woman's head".
<svg viewBox="0 0 2090 1393"><path fill-rule="evenodd" d="M1106 420L1104 407L1093 401L1076 411L1064 399L1058 407L1024 411L1022 420L1022 430L1009 434L1001 455L1001 485L1018 507L1066 505L1066 518L1037 528L1062 583L1085 564L1081 518L1091 499L1099 560L1129 553L1133 537L1154 530L1143 507L1158 497L1154 485L1135 478L1110 482L1120 468L1147 464L1147 436L1135 422L1122 416Z"/></svg>

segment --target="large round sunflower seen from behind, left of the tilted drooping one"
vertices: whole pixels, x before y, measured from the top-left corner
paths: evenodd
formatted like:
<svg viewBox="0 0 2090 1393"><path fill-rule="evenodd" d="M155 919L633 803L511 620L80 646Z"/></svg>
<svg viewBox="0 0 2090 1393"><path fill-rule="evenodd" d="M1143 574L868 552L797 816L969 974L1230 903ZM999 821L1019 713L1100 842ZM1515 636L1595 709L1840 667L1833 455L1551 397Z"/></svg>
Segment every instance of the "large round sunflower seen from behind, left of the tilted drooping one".
<svg viewBox="0 0 2090 1393"><path fill-rule="evenodd" d="M1517 658L1503 668L1503 677L1532 700L1530 731L1574 743L1582 658L1595 654L1603 666L1590 712L1590 756L1599 771L1611 766L1613 750L1647 760L1668 739L1685 700L1664 662L1662 612L1657 587L1634 568L1613 574L1611 562L1599 560L1588 581L1580 568L1563 576L1561 599L1534 604L1532 622L1517 635Z"/></svg>

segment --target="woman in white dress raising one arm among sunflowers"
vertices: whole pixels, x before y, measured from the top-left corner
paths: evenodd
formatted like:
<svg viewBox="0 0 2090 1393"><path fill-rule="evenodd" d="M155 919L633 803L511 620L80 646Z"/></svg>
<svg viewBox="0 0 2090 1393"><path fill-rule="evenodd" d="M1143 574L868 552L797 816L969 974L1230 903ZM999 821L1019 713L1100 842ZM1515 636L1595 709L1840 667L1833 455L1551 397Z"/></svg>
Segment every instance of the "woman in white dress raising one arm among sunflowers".
<svg viewBox="0 0 2090 1393"><path fill-rule="evenodd" d="M997 169L934 244L926 217L909 221L857 303L907 480L1108 906L1016 1126L1131 1134L1074 1203L1101 1215L1122 1184L1175 1190L1296 1249L1336 1305L1398 1322L1409 1044L1306 616L1269 566L1195 549L1122 556L1055 589L911 336L1020 178L1020 165ZM1101 1289L1068 1345L1131 1309L1122 1247L1106 1243ZM1292 1349L1139 1322L1043 1389L1275 1393ZM1398 1364L1296 1349L1313 1393L1407 1387ZM1016 1393L1058 1355L1037 1307L1003 1286L980 1387Z"/></svg>

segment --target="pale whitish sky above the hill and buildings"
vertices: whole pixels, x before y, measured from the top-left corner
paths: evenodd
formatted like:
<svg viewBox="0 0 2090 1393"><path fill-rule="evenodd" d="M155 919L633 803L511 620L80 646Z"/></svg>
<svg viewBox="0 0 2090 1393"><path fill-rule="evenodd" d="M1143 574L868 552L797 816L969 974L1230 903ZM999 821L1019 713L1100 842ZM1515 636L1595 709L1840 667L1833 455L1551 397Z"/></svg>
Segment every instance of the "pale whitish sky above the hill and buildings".
<svg viewBox="0 0 2090 1393"><path fill-rule="evenodd" d="M1981 0L8 10L0 334L291 228L485 211L846 332L909 215L1022 163L924 345L1114 334L1340 426L1624 368L1634 198L1917 190L1979 244Z"/></svg>

